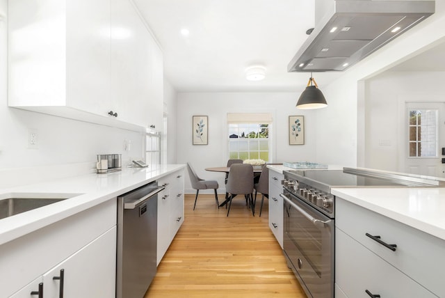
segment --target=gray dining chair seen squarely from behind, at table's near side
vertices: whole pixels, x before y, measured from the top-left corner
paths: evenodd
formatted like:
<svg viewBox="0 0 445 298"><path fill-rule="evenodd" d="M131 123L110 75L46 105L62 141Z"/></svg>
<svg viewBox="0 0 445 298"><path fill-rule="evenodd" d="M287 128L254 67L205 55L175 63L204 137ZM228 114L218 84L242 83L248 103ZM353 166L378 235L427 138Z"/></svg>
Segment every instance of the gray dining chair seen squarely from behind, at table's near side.
<svg viewBox="0 0 445 298"><path fill-rule="evenodd" d="M248 206L252 209L252 214L255 216L255 207L253 204L253 166L252 164L232 164L229 170L229 178L225 185L225 191L229 193L227 201L229 201L229 209L227 210L227 217L229 216L232 199L237 194L243 194L248 200Z"/></svg>

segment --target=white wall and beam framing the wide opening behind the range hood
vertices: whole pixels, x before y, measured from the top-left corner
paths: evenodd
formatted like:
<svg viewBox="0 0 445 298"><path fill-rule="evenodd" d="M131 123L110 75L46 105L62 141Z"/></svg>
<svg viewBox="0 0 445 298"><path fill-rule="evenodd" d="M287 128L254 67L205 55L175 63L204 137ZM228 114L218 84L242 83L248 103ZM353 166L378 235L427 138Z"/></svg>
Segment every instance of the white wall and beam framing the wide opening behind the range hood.
<svg viewBox="0 0 445 298"><path fill-rule="evenodd" d="M366 147L365 128L359 123L364 117L364 109L358 101L364 91L359 86L364 86L362 80L378 75L445 40L445 0L436 0L435 3L434 15L353 65L336 81L323 85L319 83L329 106L317 114L318 162L357 166L357 159L362 157L362 152L358 150Z"/></svg>

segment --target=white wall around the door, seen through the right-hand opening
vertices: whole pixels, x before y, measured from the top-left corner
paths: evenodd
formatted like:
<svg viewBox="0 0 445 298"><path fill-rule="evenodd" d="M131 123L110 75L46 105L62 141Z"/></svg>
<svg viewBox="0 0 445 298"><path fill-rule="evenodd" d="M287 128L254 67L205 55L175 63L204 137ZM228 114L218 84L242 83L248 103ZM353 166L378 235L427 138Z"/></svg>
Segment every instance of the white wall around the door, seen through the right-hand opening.
<svg viewBox="0 0 445 298"><path fill-rule="evenodd" d="M385 72L366 80L366 164L369 168L403 171L405 100L445 102L445 72ZM438 84L435 84L435 83Z"/></svg>

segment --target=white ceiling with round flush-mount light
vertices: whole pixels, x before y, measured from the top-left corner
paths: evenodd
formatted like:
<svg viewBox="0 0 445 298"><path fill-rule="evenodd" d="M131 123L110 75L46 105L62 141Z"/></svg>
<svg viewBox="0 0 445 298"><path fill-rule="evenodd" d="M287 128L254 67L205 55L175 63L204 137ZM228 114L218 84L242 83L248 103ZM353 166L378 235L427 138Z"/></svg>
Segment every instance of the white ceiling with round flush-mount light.
<svg viewBox="0 0 445 298"><path fill-rule="evenodd" d="M314 0L133 1L163 49L165 77L178 92L300 93L307 84L308 73L289 73L287 65L314 27ZM391 70L437 70L444 51L445 45L430 49ZM264 80L245 79L254 65L266 68ZM340 75L317 72L314 78L323 88Z"/></svg>

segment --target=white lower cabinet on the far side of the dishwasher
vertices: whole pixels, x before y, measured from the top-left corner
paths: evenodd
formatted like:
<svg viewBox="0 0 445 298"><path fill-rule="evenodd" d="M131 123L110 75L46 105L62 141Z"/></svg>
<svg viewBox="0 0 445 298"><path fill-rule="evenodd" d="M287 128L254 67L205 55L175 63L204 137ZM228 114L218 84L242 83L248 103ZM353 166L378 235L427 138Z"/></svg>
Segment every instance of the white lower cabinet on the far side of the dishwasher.
<svg viewBox="0 0 445 298"><path fill-rule="evenodd" d="M157 265L184 222L184 169L160 178L158 184L165 189L158 194Z"/></svg>

